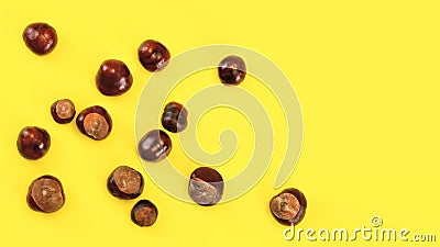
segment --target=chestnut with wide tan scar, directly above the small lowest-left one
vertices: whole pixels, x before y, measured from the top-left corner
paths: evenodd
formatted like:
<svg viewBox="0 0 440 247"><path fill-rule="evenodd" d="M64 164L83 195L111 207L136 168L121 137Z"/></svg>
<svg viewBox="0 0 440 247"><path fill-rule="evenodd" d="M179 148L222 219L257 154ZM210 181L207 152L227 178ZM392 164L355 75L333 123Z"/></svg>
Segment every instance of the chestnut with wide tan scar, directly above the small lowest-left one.
<svg viewBox="0 0 440 247"><path fill-rule="evenodd" d="M144 189L142 175L128 166L116 168L107 179L107 189L116 198L129 200L141 195Z"/></svg>

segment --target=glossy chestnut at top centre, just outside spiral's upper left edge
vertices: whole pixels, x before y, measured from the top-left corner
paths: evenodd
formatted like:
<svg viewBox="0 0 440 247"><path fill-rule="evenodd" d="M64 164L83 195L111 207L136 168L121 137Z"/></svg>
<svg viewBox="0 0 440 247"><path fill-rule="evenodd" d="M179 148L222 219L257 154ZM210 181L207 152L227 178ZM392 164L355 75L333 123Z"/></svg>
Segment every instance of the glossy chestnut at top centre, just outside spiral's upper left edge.
<svg viewBox="0 0 440 247"><path fill-rule="evenodd" d="M138 56L142 66L151 72L164 69L170 57L168 49L153 40L146 40L141 44Z"/></svg>

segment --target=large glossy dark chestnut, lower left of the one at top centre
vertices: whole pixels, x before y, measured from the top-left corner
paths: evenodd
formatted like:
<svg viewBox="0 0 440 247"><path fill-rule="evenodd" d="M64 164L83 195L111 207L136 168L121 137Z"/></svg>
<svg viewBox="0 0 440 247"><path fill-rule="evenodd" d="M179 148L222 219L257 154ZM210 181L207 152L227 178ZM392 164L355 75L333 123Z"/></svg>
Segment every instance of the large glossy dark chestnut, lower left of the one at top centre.
<svg viewBox="0 0 440 247"><path fill-rule="evenodd" d="M123 61L109 59L99 67L95 81L102 94L121 96L133 85L133 77Z"/></svg>

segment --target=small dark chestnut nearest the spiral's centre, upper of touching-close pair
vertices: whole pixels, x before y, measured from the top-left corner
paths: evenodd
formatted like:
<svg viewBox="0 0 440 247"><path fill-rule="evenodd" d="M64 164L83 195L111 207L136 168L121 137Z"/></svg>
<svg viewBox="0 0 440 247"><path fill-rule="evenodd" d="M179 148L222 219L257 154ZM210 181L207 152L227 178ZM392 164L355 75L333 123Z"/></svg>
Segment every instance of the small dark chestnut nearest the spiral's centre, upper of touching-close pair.
<svg viewBox="0 0 440 247"><path fill-rule="evenodd" d="M162 114L162 126L168 132L177 133L186 128L188 124L188 111L177 102L169 102L165 105Z"/></svg>

